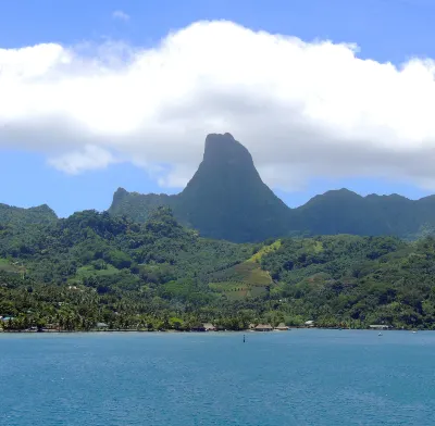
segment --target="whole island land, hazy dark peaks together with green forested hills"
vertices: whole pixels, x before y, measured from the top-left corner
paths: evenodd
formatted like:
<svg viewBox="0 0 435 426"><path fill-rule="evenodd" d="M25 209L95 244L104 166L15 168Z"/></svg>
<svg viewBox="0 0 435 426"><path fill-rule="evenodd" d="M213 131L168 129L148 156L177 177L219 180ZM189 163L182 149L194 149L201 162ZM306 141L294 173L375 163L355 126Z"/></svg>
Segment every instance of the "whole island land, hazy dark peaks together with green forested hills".
<svg viewBox="0 0 435 426"><path fill-rule="evenodd" d="M109 213L65 220L47 205L0 204L0 316L14 317L0 324L241 329L313 320L433 329L434 209L434 197L338 190L290 210L245 147L228 134L209 135L199 170L177 196L119 189Z"/></svg>

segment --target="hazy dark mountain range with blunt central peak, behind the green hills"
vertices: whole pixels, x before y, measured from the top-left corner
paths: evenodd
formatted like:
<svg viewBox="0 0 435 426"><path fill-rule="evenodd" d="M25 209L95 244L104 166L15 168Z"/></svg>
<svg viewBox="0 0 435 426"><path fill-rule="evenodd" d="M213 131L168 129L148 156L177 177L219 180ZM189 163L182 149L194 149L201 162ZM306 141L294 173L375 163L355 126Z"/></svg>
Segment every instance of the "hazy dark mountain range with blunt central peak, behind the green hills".
<svg viewBox="0 0 435 426"><path fill-rule="evenodd" d="M232 135L209 135L203 160L183 192L139 195L120 188L109 212L144 222L169 205L185 226L204 237L252 242L283 236L391 235L412 240L435 234L435 196L361 197L327 191L289 209L261 180L249 151Z"/></svg>

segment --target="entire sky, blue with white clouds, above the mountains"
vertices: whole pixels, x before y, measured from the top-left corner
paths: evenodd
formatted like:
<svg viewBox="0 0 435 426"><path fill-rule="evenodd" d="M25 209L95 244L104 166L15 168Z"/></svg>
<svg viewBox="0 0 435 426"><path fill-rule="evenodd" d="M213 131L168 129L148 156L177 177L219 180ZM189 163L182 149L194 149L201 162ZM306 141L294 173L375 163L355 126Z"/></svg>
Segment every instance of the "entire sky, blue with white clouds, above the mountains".
<svg viewBox="0 0 435 426"><path fill-rule="evenodd" d="M0 202L177 193L231 133L290 206L435 192L433 0L0 3Z"/></svg>

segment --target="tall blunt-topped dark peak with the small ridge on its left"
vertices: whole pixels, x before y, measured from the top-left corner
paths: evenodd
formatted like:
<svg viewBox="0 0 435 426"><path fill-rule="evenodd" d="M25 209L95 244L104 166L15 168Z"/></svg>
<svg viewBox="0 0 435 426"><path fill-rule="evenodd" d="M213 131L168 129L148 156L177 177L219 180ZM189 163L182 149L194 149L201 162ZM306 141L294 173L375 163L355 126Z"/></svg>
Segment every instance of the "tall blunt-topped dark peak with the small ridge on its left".
<svg viewBox="0 0 435 426"><path fill-rule="evenodd" d="M120 188L111 214L147 220L169 205L183 224L208 238L260 241L288 230L288 206L261 180L249 151L229 134L207 136L203 160L176 196L129 193Z"/></svg>

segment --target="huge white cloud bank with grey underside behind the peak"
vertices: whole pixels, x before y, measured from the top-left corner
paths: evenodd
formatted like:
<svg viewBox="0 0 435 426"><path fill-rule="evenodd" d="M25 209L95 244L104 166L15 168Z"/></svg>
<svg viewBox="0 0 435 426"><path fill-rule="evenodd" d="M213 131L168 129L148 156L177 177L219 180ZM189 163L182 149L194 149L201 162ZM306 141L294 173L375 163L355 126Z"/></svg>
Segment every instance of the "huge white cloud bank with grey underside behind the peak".
<svg viewBox="0 0 435 426"><path fill-rule="evenodd" d="M208 133L232 133L274 188L386 177L435 189L435 62L198 22L152 49L0 49L0 149L66 173L127 161L183 186Z"/></svg>

